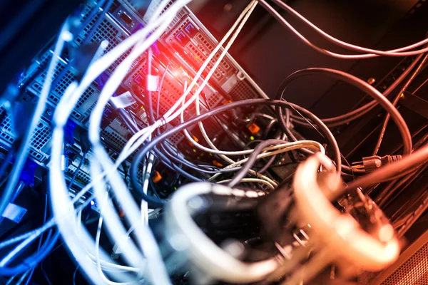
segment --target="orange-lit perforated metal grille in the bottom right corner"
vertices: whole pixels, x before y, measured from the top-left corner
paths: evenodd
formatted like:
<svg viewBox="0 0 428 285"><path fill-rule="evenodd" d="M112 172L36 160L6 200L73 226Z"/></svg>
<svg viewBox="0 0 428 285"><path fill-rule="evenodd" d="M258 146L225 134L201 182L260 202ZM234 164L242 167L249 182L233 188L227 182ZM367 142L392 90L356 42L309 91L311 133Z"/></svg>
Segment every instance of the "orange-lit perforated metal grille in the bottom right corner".
<svg viewBox="0 0 428 285"><path fill-rule="evenodd" d="M428 242L394 271L382 285L427 285Z"/></svg>

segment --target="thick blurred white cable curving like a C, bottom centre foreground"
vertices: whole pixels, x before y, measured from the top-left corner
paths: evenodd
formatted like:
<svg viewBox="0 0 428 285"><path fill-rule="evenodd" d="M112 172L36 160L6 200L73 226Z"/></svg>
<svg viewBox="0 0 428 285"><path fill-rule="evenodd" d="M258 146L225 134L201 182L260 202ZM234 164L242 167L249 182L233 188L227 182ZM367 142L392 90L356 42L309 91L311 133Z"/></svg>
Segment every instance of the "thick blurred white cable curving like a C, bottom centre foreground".
<svg viewBox="0 0 428 285"><path fill-rule="evenodd" d="M260 281L272 273L278 266L276 259L251 264L235 259L208 238L188 212L188 201L192 197L210 192L231 195L234 191L230 187L208 182L184 185L173 194L173 199L166 205L165 222L170 241L180 239L190 261L207 276L231 283L248 284ZM257 192L252 193L259 195Z"/></svg>

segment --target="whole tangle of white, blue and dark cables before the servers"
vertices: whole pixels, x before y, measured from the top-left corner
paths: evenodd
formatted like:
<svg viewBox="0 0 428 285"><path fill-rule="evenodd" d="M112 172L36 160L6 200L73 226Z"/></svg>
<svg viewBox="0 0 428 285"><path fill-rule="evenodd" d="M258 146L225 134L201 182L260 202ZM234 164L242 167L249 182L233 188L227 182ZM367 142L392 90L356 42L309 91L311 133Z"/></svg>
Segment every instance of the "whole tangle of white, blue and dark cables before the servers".
<svg viewBox="0 0 428 285"><path fill-rule="evenodd" d="M200 280L203 279L207 282L219 280L246 284L265 280L299 284L300 281L307 281L317 276L328 262L337 264L342 270L343 276L349 277L357 273L357 271L351 270L352 266L358 266L358 269L364 270L380 270L397 258L399 246L391 224L384 222L377 232L377 236L374 237L373 234L365 232L355 219L341 214L340 207L334 207L331 202L340 201L342 197L346 197L350 193L360 195L361 189L365 190L380 182L389 180L397 182L400 177L411 179L411 175L416 170L425 169L421 165L428 159L428 147L419 145L419 149L413 152L412 135L409 133L402 115L395 107L397 100L391 103L386 96L392 93L413 71L398 94L403 93L414 77L424 68L427 60L424 53L428 51L428 48L419 47L426 45L428 40L391 51L362 48L333 38L287 4L279 0L273 1L328 41L342 48L357 51L359 54L332 53L314 46L266 1L252 0L203 61L195 76L193 78L187 74L181 76L183 94L163 115L159 114L159 94L165 74L168 73L169 62L165 65L162 79L157 86L156 113L153 112L152 104L152 92L156 92L156 90L147 90L144 94L145 105L143 107L148 110L146 112L148 123L143 128L127 110L117 108L118 118L126 125L132 136L116 160L113 161L103 145L100 133L103 112L108 104L112 104L111 98L126 78L132 64L145 52L147 52L150 67L147 77L151 76L153 60L151 46L170 26L178 11L189 2L189 0L178 0L169 6L169 1L160 1L146 26L116 47L111 48L103 56L99 56L108 46L108 42L103 41L96 53L99 57L93 58L81 79L73 81L64 91L53 118L54 133L49 168L49 196L53 217L46 221L45 214L45 223L39 229L0 242L0 248L21 242L0 261L1 275L18 276L22 274L19 282L24 281L27 276L31 279L35 266L51 252L59 234L70 250L73 259L76 260L78 268L93 284L136 284L141 281L148 281L150 284L172 284L171 275L185 278L188 272L194 274L193 278L203 276L203 278L200 277ZM287 76L278 88L275 100L257 98L210 106L205 98L204 90L210 84L210 78L227 55L230 46L258 3L302 41L329 56L372 58L375 56L417 55L417 58L384 93L380 93L369 83L365 83L349 73L328 68L307 68ZM71 41L72 37L71 28L66 22L59 33L53 51L54 56L49 64L46 81L34 111L31 126L34 126L41 118L47 95L51 90L58 56L61 54L64 44ZM414 48L419 49L411 51ZM103 85L89 118L88 140L91 142L91 156L88 160L91 182L71 199L69 190L89 150L83 152L81 164L75 170L71 182L66 185L66 177L62 169L64 128L73 109L76 108L79 98L88 86L128 50L131 51L113 70ZM214 63L207 72L206 68L212 62ZM346 115L321 120L310 110L285 100L287 86L297 78L308 75L330 76L345 81L371 95L374 100ZM375 161L370 162L374 164L379 162L380 165L370 167L370 169L364 169L364 165L357 167L342 165L343 157L340 147L330 128L357 120L376 105L387 110L388 116L384 119L384 128L379 135L374 155L379 150L390 116L402 137L403 156L394 155L393 160L383 159L384 157L376 160L377 157L374 157ZM254 111L263 106L274 107L275 115L272 116L273 112ZM188 115L190 110L194 110L194 113ZM252 114L246 116L245 110L252 110L250 111ZM265 109L260 108L260 110ZM211 118L225 133L228 133L231 140L235 141L235 146L240 145L241 147L221 150L224 144L215 141L215 138L210 138L204 125L206 120ZM178 119L179 123L174 125L173 122ZM235 121L228 122L230 124L225 123L231 119L235 119ZM263 120L265 121L262 122ZM250 145L253 146L252 140L255 141L253 136L248 139L248 136L245 137L236 130L242 130L243 126L249 128L255 122L262 122L260 125L263 124L265 131L260 136L257 145L250 148ZM322 141L301 138L294 125L315 129L322 136ZM231 130L230 126L236 130ZM183 132L188 142L195 147L195 152L198 149L206 155L215 156L220 162L208 165L185 155L182 147L174 145L168 140L179 132ZM195 139L193 136L195 132L202 135L204 142L198 142ZM26 134L18 149L18 158L11 171L11 180L7 182L4 190L0 204L1 212L4 211L13 194L17 183L16 175L21 172L21 164L26 158L28 143L29 135ZM332 150L331 160L327 157L327 150ZM133 158L129 173L131 187L129 187L127 160L130 160L131 155ZM275 167L281 166L281 162L286 158L291 161L290 163L298 165L295 173L295 170L292 170L291 178L280 177L274 171ZM363 162L368 165L370 163L367 161L370 159L372 158L367 157L365 160L363 159ZM160 165L176 174L169 185L171 188L175 185L183 185L173 195L159 193L156 182L152 179L153 172L156 172ZM125 179L118 170L118 167L121 166L123 172L126 173ZM138 170L141 169L143 175L139 177ZM372 172L366 173L370 171ZM350 175L352 175L352 181L349 181ZM159 174L159 176L162 175ZM290 182L291 180L292 182ZM348 182L345 183L344 180ZM227 186L223 185L226 183ZM91 194L88 194L90 190ZM276 194L285 190L289 191L285 196ZM84 195L88 195L89 198L82 203L81 198ZM382 204L387 203L385 196L388 198L390 195L382 194L382 199L380 199ZM275 206L275 199L272 197L287 198L285 204L282 204L281 211L276 215L269 214L269 207L263 208L263 203L269 199L272 200L267 202L267 205ZM367 204L374 203L371 199L360 198ZM83 209L93 199L96 200L100 209L95 237L88 231L82 218ZM215 209L215 214L210 212L210 215L198 219L198 216L201 218L208 209ZM376 209L378 208L376 207ZM366 214L370 218L371 215L377 215L380 212L380 210L375 213L368 211ZM274 216L275 219L271 219ZM220 217L223 217L223 223L213 222L213 219L220 219ZM153 232L149 226L151 218L163 219L161 237L158 237L159 234ZM335 219L339 222L335 222ZM205 221L206 228L198 225L196 221ZM285 225L285 221L288 224ZM266 226L264 226L264 222L266 222ZM49 232L42 245L43 234L46 231ZM236 237L246 239L246 242L234 240L222 245L220 243L225 241L215 242L210 239L210 231L218 234L217 237L228 237L232 233L238 232L239 235L237 234ZM101 234L106 234L111 248L103 247ZM38 237L41 238L38 251L34 256L25 259L14 269L6 267L9 260ZM269 250L263 251L257 247L255 247L257 249L250 249L248 241L255 239ZM367 247L370 249L359 247L360 244L368 244ZM370 252L372 249L374 252ZM112 251L121 252L121 259L113 259L109 254ZM246 255L245 251L259 251L259 254L254 254L252 257L255 256L255 259L260 257L260 260L244 260L245 256L250 256L250 254ZM310 254L312 251L316 254ZM190 265L186 264L187 261L190 261Z"/></svg>

